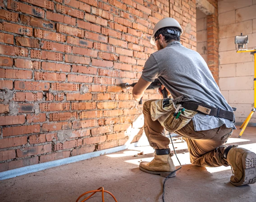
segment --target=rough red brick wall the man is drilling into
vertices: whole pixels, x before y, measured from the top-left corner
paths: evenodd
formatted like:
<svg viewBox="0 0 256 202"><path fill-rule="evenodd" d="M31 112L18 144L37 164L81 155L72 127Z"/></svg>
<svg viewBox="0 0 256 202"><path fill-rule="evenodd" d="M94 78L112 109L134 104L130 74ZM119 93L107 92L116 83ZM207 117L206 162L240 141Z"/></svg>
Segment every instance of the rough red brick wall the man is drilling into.
<svg viewBox="0 0 256 202"><path fill-rule="evenodd" d="M170 16L196 49L195 0ZM0 0L0 171L137 141L136 82L168 0ZM149 90L143 99L158 99ZM127 130L129 129L129 130ZM136 129L137 134L132 134Z"/></svg>

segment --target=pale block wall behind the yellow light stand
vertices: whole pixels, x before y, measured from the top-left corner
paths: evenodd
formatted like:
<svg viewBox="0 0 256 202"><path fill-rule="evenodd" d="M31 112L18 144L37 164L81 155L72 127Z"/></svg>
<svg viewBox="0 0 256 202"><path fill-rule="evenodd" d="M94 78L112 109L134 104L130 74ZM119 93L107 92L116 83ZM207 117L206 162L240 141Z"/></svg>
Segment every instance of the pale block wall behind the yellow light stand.
<svg viewBox="0 0 256 202"><path fill-rule="evenodd" d="M219 0L219 88L243 122L253 107L253 56L236 53L234 37L248 35L256 48L256 0ZM251 123L256 123L256 114Z"/></svg>

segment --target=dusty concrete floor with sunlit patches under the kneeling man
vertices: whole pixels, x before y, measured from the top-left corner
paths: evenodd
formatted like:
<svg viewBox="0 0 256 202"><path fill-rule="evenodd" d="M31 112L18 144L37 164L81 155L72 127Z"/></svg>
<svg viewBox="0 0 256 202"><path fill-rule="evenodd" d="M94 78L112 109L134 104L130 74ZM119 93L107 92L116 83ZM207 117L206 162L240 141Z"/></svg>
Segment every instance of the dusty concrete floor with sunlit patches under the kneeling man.
<svg viewBox="0 0 256 202"><path fill-rule="evenodd" d="M248 127L238 139L236 130L227 145L239 145L256 152L256 127ZM177 139L177 138L176 138ZM174 141L183 168L166 182L166 202L255 202L256 184L235 187L229 183L230 167L205 168L189 162L187 145ZM133 157L139 151L144 155ZM82 193L103 186L118 202L161 202L165 178L139 170L141 160L150 161L150 146L135 147L44 171L0 181L1 202L75 202ZM178 166L178 161L174 164ZM178 168L178 167L177 167ZM96 193L89 202L100 202ZM105 193L105 201L114 201Z"/></svg>

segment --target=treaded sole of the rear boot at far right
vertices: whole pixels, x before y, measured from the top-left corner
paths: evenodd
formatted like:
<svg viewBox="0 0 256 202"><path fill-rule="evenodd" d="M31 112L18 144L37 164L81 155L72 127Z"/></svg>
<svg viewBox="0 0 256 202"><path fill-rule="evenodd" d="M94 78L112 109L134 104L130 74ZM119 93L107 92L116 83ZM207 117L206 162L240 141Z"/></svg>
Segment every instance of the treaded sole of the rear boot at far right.
<svg viewBox="0 0 256 202"><path fill-rule="evenodd" d="M256 183L256 154L247 151L242 156L242 166L243 166L243 178L238 183L231 184L235 186L242 186L245 184L254 184Z"/></svg>

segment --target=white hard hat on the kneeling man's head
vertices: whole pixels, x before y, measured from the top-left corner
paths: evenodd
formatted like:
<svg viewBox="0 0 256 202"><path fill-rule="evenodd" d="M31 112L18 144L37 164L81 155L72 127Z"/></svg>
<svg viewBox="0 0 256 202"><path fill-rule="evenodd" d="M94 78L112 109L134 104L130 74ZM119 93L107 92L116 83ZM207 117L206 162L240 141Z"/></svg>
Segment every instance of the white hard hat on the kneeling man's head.
<svg viewBox="0 0 256 202"><path fill-rule="evenodd" d="M151 37L150 43L152 45L156 45L155 44L155 32L158 31L159 29L163 28L163 27L167 27L167 26L174 26L180 29L180 35L183 34L183 29L181 28L180 24L178 23L177 20L175 20L174 18L164 18L161 19L159 22L157 22L155 24L155 28L153 31L153 35Z"/></svg>

